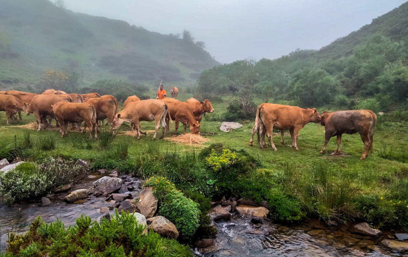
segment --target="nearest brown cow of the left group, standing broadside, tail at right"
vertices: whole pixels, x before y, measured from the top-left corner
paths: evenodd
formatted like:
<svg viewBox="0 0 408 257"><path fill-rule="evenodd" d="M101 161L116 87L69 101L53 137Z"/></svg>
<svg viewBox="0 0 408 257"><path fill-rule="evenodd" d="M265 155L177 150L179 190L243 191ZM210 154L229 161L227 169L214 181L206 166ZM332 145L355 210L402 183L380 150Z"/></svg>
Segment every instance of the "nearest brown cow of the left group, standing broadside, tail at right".
<svg viewBox="0 0 408 257"><path fill-rule="evenodd" d="M89 138L92 138L92 132L95 133L95 138L98 138L98 128L96 124L96 109L91 103L69 103L58 102L52 107L55 119L61 124L61 137L67 136L68 123L82 123L84 121L84 130L89 127Z"/></svg>

